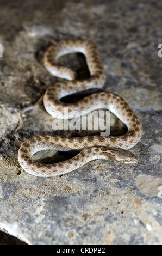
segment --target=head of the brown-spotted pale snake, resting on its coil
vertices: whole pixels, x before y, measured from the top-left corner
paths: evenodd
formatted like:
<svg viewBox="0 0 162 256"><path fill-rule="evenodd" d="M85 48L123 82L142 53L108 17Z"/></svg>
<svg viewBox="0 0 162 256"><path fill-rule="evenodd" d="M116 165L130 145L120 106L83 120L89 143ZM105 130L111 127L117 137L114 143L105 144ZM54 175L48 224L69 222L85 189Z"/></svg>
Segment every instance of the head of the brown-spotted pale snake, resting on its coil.
<svg viewBox="0 0 162 256"><path fill-rule="evenodd" d="M130 151L121 148L102 147L102 154L105 159L119 163L137 164L139 157Z"/></svg>

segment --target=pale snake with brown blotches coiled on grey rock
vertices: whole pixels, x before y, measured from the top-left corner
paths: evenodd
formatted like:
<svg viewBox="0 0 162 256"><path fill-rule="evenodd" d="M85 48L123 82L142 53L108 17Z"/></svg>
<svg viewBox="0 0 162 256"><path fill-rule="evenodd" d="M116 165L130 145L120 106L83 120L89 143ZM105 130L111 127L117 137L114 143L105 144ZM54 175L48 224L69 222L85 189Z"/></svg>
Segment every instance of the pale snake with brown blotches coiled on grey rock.
<svg viewBox="0 0 162 256"><path fill-rule="evenodd" d="M84 54L86 64L90 71L90 77L76 79L76 72L67 66L58 64L58 59L66 54L79 52ZM89 40L61 40L49 46L44 56L46 70L53 76L63 78L61 82L55 82L49 86L41 99L33 106L26 107L20 112L20 125L22 126L22 114L43 101L43 105L49 115L54 118L62 118L64 108L68 107L68 117L82 111L91 112L94 109L108 109L127 126L128 131L120 136L91 135L83 137L64 137L58 135L36 135L24 141L18 150L18 162L27 173L51 177L66 174L82 167L92 160L109 160L118 163L137 164L139 157L128 149L134 147L142 136L142 124L128 103L119 95L110 92L95 92L83 99L66 103L61 98L67 95L75 95L87 90L99 90L105 83L105 70L99 56L99 51L94 42ZM71 159L58 163L40 163L33 160L33 155L42 150L77 151L77 155Z"/></svg>

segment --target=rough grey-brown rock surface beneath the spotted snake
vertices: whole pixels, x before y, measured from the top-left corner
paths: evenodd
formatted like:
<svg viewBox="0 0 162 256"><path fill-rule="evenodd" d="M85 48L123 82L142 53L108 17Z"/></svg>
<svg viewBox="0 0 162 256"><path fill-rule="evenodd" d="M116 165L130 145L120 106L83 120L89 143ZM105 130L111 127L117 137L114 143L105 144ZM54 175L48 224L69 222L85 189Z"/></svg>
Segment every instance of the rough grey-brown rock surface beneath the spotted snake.
<svg viewBox="0 0 162 256"><path fill-rule="evenodd" d="M29 245L162 244L161 7L155 0L1 1L1 231ZM48 46L78 38L99 48L107 72L103 90L122 96L141 120L144 133L131 150L140 162L97 160L63 176L38 178L21 169L17 151L29 137L53 133L53 119L40 106L26 113L15 133L18 113L58 81L43 66ZM69 58L83 76L82 56ZM111 133L124 132L113 115L111 125Z"/></svg>

